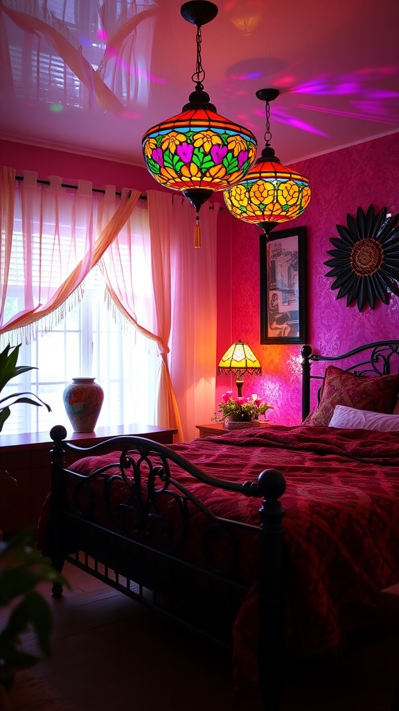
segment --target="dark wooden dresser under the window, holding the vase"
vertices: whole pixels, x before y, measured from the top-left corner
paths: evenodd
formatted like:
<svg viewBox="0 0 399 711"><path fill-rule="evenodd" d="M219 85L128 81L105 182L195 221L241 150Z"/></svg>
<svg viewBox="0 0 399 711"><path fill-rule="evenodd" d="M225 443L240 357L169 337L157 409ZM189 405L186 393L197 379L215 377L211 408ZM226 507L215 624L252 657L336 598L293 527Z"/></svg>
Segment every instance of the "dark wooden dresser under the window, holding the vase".
<svg viewBox="0 0 399 711"><path fill-rule="evenodd" d="M161 444L172 444L177 429L151 424L125 424L97 427L95 432L73 432L67 442L79 447L92 447L109 437L136 434ZM0 478L0 530L15 533L38 522L45 497L50 491L53 442L48 432L0 434L0 471L9 471L17 481ZM77 457L68 454L67 465Z"/></svg>

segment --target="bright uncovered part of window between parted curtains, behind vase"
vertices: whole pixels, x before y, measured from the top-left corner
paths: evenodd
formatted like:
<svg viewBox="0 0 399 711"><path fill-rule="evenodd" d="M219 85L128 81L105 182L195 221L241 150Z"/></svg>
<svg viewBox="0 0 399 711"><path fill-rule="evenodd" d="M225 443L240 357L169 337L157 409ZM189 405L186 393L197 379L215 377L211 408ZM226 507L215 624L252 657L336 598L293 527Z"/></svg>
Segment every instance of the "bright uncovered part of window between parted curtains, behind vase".
<svg viewBox="0 0 399 711"><path fill-rule="evenodd" d="M18 365L33 365L11 380L2 396L33 392L50 405L18 404L3 432L48 432L54 424L72 426L62 405L62 392L72 378L88 375L104 389L97 426L155 423L156 383L160 357L156 344L145 338L104 301L101 274L92 275L84 298L68 311L53 331L40 329L38 338L20 350Z"/></svg>

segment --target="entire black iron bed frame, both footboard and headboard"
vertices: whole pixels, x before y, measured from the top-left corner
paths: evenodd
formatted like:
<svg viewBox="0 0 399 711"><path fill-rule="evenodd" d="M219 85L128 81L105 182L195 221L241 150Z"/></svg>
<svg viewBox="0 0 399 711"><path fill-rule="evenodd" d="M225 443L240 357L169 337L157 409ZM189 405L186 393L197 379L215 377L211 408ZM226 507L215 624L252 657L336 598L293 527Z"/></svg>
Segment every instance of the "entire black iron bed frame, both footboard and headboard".
<svg viewBox="0 0 399 711"><path fill-rule="evenodd" d="M311 365L317 361L353 360L360 353L361 363L353 363L346 370L361 376L390 373L390 361L399 354L398 341L378 341L355 348L344 355L324 356L312 353L310 346L302 346L302 415L310 411ZM163 614L184 621L192 629L209 638L231 646L232 625L244 600L248 585L237 577L237 548L234 531L256 531L260 540L259 584L259 647L258 672L261 690L268 711L279 707L282 688L283 650L283 516L280 497L285 491L285 479L279 471L266 469L258 481L244 484L222 481L204 474L194 464L169 447L142 437L114 437L95 445L81 448L65 441L65 427L53 427L52 493L50 497L50 557L57 570L65 560L101 579L129 597L154 607ZM94 501L89 481L103 479L109 466L103 466L89 476L75 474L65 466L65 453L86 457L104 452L120 452L114 465L120 474L109 477L104 485L104 496L117 481L129 487L129 501L121 509L130 517L132 534L127 537L110 513L107 526L93 523ZM132 454L134 453L134 454ZM259 527L226 520L214 515L190 491L178 483L170 464L179 466L209 486L231 491L236 496L257 498L260 503ZM128 482L126 475L133 479ZM73 510L66 502L67 481L72 482ZM84 504L82 505L82 499ZM176 529L160 513L159 502L168 499L174 515L179 515ZM105 498L105 506L107 506ZM206 524L202 531L202 565L194 565L179 557L179 551L190 536L192 511L200 510ZM120 512L119 512L120 513ZM153 540L157 540L157 546ZM228 563L220 565L212 557L213 543L222 540L227 546ZM62 588L55 584L53 596L60 597ZM195 611L195 614L193 614ZM204 621L210 621L206 627ZM217 624L217 629L215 624ZM264 674L263 670L268 670ZM270 676L273 683L270 684Z"/></svg>

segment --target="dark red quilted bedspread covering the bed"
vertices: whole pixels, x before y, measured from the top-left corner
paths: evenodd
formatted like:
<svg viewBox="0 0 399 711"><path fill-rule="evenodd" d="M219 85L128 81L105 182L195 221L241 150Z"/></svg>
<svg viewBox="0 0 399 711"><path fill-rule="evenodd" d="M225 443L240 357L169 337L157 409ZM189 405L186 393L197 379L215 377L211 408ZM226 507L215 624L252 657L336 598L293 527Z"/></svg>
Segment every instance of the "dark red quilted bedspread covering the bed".
<svg viewBox="0 0 399 711"><path fill-rule="evenodd" d="M346 631L371 614L378 590L399 581L398 433L262 427L173 449L220 479L256 481L270 468L285 475L286 631L297 653L338 646ZM99 458L72 468L83 473L87 466L93 471ZM217 515L258 525L259 500L184 479ZM238 685L256 681L255 609L253 586L236 621Z"/></svg>

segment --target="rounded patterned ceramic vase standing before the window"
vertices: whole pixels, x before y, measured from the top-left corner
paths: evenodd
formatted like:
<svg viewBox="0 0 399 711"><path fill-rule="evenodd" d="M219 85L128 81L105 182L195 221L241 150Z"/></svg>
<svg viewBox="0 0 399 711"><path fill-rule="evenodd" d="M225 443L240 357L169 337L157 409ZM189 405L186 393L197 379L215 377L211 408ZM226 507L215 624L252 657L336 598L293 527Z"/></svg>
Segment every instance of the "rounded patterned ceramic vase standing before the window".
<svg viewBox="0 0 399 711"><path fill-rule="evenodd" d="M104 400L104 390L95 378L72 378L62 395L74 432L94 432Z"/></svg>

